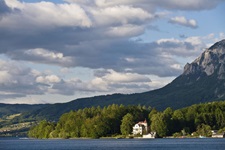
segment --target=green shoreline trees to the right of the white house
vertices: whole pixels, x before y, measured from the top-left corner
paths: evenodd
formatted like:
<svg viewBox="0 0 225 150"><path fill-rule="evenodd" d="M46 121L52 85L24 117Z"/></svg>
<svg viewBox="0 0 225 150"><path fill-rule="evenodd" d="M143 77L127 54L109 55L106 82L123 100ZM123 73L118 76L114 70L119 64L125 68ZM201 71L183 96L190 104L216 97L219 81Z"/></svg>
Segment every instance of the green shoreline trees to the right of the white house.
<svg viewBox="0 0 225 150"><path fill-rule="evenodd" d="M152 110L149 114L151 130L156 131L161 137L190 135L210 136L211 129L225 128L225 101L192 105L187 108L173 111L171 108L163 112ZM225 129L224 129L225 130Z"/></svg>

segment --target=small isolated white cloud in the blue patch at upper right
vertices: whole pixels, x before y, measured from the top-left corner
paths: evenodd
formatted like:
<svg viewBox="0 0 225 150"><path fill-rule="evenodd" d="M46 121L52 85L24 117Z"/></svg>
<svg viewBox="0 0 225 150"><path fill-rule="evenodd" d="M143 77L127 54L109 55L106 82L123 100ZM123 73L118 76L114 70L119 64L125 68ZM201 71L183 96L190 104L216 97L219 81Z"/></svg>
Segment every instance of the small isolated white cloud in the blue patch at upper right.
<svg viewBox="0 0 225 150"><path fill-rule="evenodd" d="M179 25L182 25L182 26L190 27L190 28L197 28L198 27L197 22L194 19L188 20L183 16L171 18L169 20L169 23L179 24Z"/></svg>

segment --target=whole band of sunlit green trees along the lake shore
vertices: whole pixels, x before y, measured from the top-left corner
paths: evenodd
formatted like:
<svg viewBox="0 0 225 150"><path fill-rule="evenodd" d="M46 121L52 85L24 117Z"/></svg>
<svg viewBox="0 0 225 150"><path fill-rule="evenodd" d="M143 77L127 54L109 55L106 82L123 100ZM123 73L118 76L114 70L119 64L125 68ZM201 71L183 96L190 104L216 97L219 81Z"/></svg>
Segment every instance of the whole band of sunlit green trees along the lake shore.
<svg viewBox="0 0 225 150"><path fill-rule="evenodd" d="M211 130L225 131L225 101L196 104L164 111L146 106L112 104L63 114L57 123L46 120L28 132L34 138L99 138L132 134L132 127L147 120L151 131L165 136L211 136Z"/></svg>

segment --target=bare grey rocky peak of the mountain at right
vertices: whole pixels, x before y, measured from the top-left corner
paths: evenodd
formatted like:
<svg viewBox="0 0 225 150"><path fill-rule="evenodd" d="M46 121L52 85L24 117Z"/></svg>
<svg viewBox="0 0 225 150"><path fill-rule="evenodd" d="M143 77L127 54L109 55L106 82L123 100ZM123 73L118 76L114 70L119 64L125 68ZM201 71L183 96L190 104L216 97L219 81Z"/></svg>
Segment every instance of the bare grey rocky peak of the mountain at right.
<svg viewBox="0 0 225 150"><path fill-rule="evenodd" d="M206 74L217 73L219 79L225 78L225 39L206 49L200 57L191 64L186 64L183 75L195 75L199 78Z"/></svg>

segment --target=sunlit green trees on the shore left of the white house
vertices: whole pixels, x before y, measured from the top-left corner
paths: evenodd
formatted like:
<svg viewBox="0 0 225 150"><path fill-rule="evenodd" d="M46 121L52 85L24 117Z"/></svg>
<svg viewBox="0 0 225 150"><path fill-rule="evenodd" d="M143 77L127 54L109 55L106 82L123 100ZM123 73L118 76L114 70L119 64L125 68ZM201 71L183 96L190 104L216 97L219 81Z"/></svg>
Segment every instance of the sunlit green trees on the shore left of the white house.
<svg viewBox="0 0 225 150"><path fill-rule="evenodd" d="M46 121L41 122L30 130L29 136L35 138L99 138L118 135L121 132L128 134L131 133L134 122L144 120L149 112L148 108L140 105L113 104L103 108L84 108L63 114L54 130L49 132L44 129L47 126ZM48 135L46 135L47 133Z"/></svg>

